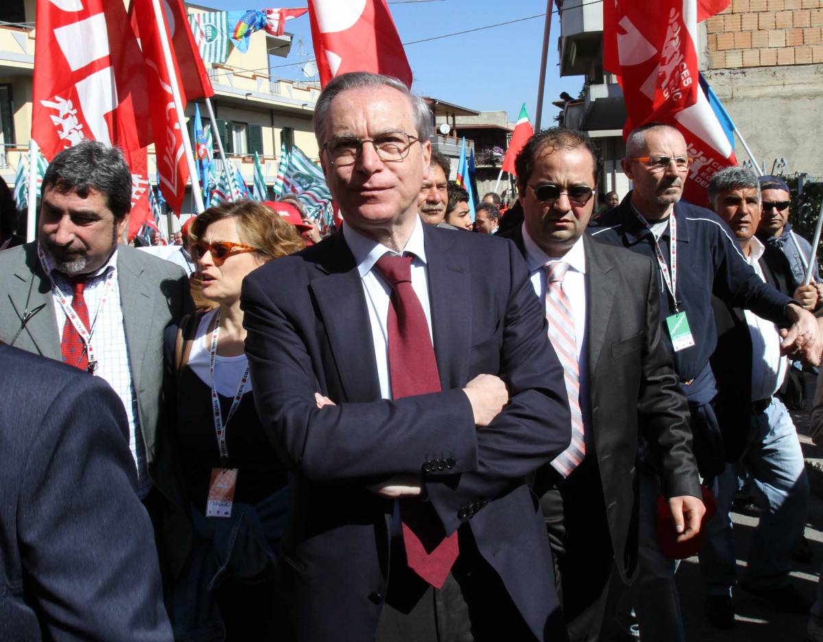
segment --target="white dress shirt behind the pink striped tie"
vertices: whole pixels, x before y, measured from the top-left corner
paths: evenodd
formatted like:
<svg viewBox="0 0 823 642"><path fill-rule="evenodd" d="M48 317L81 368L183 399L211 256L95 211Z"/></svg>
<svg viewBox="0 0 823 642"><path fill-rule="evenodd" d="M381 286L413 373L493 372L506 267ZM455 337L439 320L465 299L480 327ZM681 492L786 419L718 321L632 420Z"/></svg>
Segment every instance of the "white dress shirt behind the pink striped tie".
<svg viewBox="0 0 823 642"><path fill-rule="evenodd" d="M588 452L591 445L591 412L588 407L588 341L586 339L586 253L581 236L571 249L561 257L551 257L532 240L523 225L523 245L526 248L526 264L534 292L546 309L546 265L548 263L568 263L569 269L563 277L560 288L569 300L574 317L574 341L577 344L577 363L580 381L580 412L583 415L584 440Z"/></svg>

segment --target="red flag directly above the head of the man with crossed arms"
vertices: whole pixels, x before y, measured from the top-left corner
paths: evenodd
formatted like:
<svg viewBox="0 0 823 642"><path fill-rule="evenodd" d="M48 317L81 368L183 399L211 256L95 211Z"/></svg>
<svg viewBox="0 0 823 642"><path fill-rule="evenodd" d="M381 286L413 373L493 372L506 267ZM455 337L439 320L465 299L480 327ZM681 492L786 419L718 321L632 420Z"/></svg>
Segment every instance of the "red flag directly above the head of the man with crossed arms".
<svg viewBox="0 0 823 642"><path fill-rule="evenodd" d="M320 85L346 72L393 76L412 86L412 69L386 0L309 0Z"/></svg>

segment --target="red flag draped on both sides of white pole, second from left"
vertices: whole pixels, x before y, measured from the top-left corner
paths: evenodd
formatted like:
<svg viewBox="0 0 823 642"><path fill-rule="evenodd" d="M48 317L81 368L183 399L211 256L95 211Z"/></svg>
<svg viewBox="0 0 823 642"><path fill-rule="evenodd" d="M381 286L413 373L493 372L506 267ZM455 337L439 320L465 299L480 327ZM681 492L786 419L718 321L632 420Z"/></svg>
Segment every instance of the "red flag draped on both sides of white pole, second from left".
<svg viewBox="0 0 823 642"><path fill-rule="evenodd" d="M164 13L164 27L170 42L174 77L177 78L180 98L185 104L214 95L212 82L198 52L194 36L188 26L188 17L181 0L160 0ZM177 110L171 89L171 75L165 64L160 31L157 27L151 0L133 0L132 26L140 39L146 65L146 84L151 95L151 128L155 143L157 179L163 197L178 216L188 184L188 163L185 158L183 132L180 130Z"/></svg>

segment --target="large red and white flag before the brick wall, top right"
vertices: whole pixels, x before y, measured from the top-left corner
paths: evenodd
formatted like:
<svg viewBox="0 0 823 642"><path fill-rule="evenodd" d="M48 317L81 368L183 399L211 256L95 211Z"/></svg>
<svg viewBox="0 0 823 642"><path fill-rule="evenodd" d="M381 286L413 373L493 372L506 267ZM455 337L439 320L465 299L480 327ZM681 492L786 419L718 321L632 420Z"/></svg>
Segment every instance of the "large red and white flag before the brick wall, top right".
<svg viewBox="0 0 823 642"><path fill-rule="evenodd" d="M707 202L712 175L737 165L734 149L700 90L697 23L730 0L605 0L603 66L618 76L626 111L624 135L644 123L668 123L686 138L695 159L684 188L690 202Z"/></svg>

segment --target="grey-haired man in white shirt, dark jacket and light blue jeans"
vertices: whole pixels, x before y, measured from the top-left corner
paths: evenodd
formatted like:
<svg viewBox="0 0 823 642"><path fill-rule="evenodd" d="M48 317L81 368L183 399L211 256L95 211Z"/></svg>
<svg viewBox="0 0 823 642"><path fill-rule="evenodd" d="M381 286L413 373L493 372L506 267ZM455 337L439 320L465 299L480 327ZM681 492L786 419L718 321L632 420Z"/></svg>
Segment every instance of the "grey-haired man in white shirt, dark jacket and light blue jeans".
<svg viewBox="0 0 823 642"><path fill-rule="evenodd" d="M742 167L718 171L709 183L714 212L732 228L746 263L770 285L787 286L790 270L775 272L766 254L780 254L755 236L760 223L760 186ZM785 263L778 263L785 265ZM792 417L774 394L786 376L774 323L715 297L718 346L711 359L718 381L715 409L729 462L748 472L760 505L741 587L769 598L783 611L805 614L811 602L789 578L791 551L806 524L809 482ZM737 467L727 466L717 479L718 512L709 522L700 551L706 584L706 615L715 626L734 624L732 588L737 583L732 518Z"/></svg>

